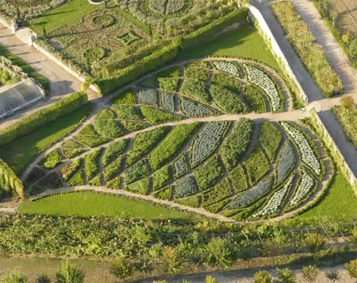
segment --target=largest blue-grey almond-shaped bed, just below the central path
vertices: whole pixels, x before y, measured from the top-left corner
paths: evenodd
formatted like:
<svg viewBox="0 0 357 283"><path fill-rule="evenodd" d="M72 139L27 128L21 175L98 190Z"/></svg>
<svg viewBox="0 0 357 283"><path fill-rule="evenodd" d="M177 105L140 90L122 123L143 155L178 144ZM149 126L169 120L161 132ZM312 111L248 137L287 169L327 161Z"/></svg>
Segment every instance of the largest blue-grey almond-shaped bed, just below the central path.
<svg viewBox="0 0 357 283"><path fill-rule="evenodd" d="M209 123L199 133L192 145L191 164L196 166L208 157L217 147L225 134L229 122Z"/></svg>

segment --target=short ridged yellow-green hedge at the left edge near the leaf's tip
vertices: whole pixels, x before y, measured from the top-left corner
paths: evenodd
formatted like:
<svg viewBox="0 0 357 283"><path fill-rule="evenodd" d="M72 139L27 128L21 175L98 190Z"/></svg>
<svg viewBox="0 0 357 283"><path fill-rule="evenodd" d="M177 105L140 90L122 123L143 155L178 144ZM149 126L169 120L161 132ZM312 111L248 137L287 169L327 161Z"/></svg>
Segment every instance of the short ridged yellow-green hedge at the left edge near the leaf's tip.
<svg viewBox="0 0 357 283"><path fill-rule="evenodd" d="M0 192L16 191L21 198L24 198L24 185L11 168L0 159Z"/></svg>

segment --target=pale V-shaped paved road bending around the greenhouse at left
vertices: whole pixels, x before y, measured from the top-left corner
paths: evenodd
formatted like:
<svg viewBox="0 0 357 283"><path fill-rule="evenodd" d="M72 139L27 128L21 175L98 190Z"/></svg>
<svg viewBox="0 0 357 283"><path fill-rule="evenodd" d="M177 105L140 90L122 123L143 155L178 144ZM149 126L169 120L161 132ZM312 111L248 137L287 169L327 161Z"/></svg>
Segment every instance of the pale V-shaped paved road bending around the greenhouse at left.
<svg viewBox="0 0 357 283"><path fill-rule="evenodd" d="M59 67L36 48L26 45L23 41L13 35L11 30L2 24L0 24L0 45L6 47L13 54L23 59L35 71L47 77L51 84L50 99L39 102L24 111L0 120L0 129L11 125L20 118L28 116L31 112L37 111L40 108L63 98L66 94L74 93L80 89L81 82L76 77ZM90 96L95 96L93 91L88 92L88 94Z"/></svg>

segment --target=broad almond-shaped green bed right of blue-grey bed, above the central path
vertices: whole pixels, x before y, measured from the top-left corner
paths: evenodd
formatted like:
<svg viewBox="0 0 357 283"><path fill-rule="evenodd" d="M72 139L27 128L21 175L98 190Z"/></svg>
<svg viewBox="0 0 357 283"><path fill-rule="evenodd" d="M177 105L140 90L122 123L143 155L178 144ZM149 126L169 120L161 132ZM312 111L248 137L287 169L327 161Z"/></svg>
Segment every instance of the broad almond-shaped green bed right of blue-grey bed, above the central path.
<svg viewBox="0 0 357 283"><path fill-rule="evenodd" d="M211 85L209 93L213 102L226 113L247 113L248 109L244 102L234 93L226 88Z"/></svg>

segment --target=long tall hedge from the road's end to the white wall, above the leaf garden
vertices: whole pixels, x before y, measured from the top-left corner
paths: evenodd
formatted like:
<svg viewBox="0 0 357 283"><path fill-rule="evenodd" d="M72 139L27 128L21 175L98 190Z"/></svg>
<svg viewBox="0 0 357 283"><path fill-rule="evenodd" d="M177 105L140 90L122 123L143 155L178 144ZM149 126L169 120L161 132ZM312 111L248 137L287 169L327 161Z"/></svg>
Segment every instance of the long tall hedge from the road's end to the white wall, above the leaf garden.
<svg viewBox="0 0 357 283"><path fill-rule="evenodd" d="M174 38L169 46L163 47L144 59L119 70L111 77L96 81L95 84L102 95L109 94L130 81L173 60L180 50L189 50L190 48L199 47L211 42L214 40L215 35L222 31L222 29L233 23L244 22L247 17L248 8L244 7L234 10L228 15L199 28L187 36Z"/></svg>

